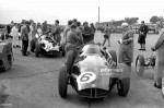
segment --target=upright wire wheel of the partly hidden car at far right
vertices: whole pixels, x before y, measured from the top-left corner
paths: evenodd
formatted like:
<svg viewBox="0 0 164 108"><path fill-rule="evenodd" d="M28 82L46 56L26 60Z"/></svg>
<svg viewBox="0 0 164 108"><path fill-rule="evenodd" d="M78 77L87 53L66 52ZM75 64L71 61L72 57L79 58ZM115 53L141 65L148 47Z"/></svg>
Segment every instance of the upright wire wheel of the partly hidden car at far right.
<svg viewBox="0 0 164 108"><path fill-rule="evenodd" d="M139 76L144 73L144 57L142 55L139 55L136 59L136 72Z"/></svg>

